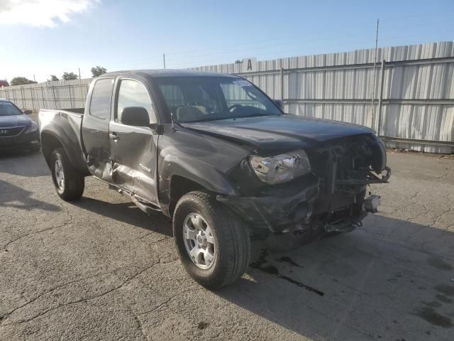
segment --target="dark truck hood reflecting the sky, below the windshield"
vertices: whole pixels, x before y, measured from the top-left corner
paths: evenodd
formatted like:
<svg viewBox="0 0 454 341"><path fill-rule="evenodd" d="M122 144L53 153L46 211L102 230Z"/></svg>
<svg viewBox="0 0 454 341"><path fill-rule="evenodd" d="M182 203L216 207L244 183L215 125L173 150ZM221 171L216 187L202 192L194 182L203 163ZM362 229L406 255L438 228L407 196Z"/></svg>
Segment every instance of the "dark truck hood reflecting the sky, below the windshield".
<svg viewBox="0 0 454 341"><path fill-rule="evenodd" d="M305 148L374 131L365 126L291 114L182 123L187 129L264 149Z"/></svg>

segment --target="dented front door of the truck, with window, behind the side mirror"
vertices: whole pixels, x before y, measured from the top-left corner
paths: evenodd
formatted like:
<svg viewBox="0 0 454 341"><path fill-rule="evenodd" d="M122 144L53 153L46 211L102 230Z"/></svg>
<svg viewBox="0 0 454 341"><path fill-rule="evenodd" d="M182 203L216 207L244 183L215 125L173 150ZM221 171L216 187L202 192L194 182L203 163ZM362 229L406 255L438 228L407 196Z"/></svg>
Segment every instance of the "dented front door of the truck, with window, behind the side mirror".
<svg viewBox="0 0 454 341"><path fill-rule="evenodd" d="M110 123L112 178L115 185L158 204L156 188L157 133L144 126L121 123L126 107L143 107L150 124L157 123L153 101L142 82L123 78L116 87L116 108Z"/></svg>

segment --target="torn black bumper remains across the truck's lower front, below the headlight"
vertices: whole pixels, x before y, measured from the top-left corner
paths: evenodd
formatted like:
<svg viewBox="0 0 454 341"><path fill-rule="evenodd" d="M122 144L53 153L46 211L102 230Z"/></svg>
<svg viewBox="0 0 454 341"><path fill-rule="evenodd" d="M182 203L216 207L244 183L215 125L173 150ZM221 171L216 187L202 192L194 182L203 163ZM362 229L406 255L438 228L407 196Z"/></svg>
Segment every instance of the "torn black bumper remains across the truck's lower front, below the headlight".
<svg viewBox="0 0 454 341"><path fill-rule="evenodd" d="M286 185L268 186L255 196L216 198L255 229L284 232L332 225L333 231L341 231L360 225L367 212L377 212L380 197L365 200L366 185L387 183L390 174L389 168L380 174L352 171L348 178L333 178L333 183L310 174ZM330 217L339 219L333 222Z"/></svg>

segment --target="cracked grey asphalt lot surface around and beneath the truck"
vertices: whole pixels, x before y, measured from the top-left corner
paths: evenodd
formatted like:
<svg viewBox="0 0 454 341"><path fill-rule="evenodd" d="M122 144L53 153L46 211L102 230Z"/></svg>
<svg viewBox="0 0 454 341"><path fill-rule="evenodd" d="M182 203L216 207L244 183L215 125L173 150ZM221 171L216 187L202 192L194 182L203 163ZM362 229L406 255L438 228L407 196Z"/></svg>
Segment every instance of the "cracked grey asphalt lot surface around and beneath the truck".
<svg viewBox="0 0 454 341"><path fill-rule="evenodd" d="M170 220L104 183L54 192L40 153L0 156L0 340L454 340L454 160L389 153L376 215L271 254L211 292Z"/></svg>

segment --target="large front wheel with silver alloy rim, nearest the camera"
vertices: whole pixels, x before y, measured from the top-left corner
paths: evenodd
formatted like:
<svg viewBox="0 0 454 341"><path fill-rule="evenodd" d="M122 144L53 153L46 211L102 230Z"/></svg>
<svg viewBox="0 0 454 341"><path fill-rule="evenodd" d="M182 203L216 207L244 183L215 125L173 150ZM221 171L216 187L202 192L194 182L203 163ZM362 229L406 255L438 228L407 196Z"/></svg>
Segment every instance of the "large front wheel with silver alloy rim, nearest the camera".
<svg viewBox="0 0 454 341"><path fill-rule="evenodd" d="M187 247L188 241L192 242L184 237L184 230L187 230L187 227L195 227L196 224L192 224L192 221L199 222L198 217L204 220L202 225L206 226L205 232L211 232L212 237L206 237L206 240L211 240L212 243L207 242L208 246L204 251L211 249L214 254L213 261L211 263L206 261L205 254L201 256L201 263L205 263L207 269L201 269L203 264L196 265L196 259L189 254L190 247ZM194 231L200 229L194 228ZM196 282L206 288L216 290L227 286L240 278L248 267L250 259L248 229L228 207L217 202L208 193L196 191L180 198L173 217L173 234L184 269Z"/></svg>

